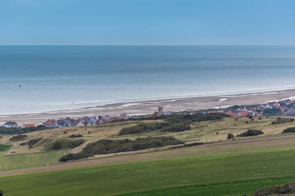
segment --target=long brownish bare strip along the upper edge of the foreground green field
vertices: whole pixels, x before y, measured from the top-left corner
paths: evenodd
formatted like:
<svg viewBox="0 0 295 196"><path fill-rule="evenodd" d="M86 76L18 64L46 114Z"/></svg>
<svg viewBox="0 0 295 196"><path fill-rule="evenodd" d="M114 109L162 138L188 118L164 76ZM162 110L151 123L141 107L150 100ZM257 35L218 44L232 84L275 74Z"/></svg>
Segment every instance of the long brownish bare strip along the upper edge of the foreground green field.
<svg viewBox="0 0 295 196"><path fill-rule="evenodd" d="M239 153L239 152L253 152L264 149L282 149L282 148L295 148L295 135L280 135L280 136L268 136L268 137L257 137L239 141L229 141L221 143L213 143L196 147L185 147L178 148L168 151L150 152L143 154L132 154L117 157L107 157L100 159L91 159L86 161L77 161L71 163L41 166L29 169L2 171L0 176L13 175L30 172L44 172L63 170L70 168L80 168L97 165L117 164L117 163L128 163L136 161L150 161L169 159L177 157L191 157L201 155L213 155L213 154L228 154L228 153Z"/></svg>

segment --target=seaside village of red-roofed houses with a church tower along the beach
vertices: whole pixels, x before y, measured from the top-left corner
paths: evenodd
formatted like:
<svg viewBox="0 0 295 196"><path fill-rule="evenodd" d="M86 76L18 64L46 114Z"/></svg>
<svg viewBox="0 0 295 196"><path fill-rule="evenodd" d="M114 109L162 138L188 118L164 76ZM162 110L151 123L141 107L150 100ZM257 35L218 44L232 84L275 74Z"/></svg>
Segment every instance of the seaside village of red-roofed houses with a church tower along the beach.
<svg viewBox="0 0 295 196"><path fill-rule="evenodd" d="M186 111L180 112L169 112L163 111L163 107L159 106L158 111L155 111L151 115L128 115L122 113L118 116L111 117L105 116L84 116L82 118L59 118L59 119L49 119L42 123L46 128L64 128L64 127L77 127L77 126L92 126L107 124L114 121L120 121L125 119L136 119L142 117L156 117L162 115L195 115L195 114L208 114L208 113L224 113L232 117L262 117L262 116L295 116L295 100L285 99L279 101L270 101L264 104L253 104L253 105L234 105L226 108L208 108L203 110L198 109L187 109ZM19 125L16 122L9 121L1 125L5 128L35 128L36 125L32 123Z"/></svg>

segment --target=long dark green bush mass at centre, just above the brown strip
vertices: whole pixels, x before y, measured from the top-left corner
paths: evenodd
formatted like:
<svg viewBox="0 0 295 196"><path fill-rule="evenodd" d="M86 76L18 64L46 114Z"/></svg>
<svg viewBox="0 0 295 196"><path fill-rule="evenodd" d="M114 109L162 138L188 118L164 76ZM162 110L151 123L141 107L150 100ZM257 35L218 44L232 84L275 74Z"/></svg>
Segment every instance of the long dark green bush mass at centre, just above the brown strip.
<svg viewBox="0 0 295 196"><path fill-rule="evenodd" d="M183 144L183 142L173 137L147 137L135 140L108 140L103 139L88 144L82 152L87 154L110 154L126 151L137 151L155 147L165 147Z"/></svg>

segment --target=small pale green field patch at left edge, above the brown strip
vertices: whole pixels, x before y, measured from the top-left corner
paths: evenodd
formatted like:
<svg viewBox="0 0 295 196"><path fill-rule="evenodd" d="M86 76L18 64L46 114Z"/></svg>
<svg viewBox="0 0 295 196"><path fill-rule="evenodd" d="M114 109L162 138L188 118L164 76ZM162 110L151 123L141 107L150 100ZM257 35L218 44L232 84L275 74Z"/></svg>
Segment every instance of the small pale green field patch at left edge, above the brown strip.
<svg viewBox="0 0 295 196"><path fill-rule="evenodd" d="M49 163L55 163L58 162L59 158L65 155L66 152L59 151L35 154L18 154L10 156L1 156L2 154L3 152L0 152L0 171L37 167L47 165Z"/></svg>

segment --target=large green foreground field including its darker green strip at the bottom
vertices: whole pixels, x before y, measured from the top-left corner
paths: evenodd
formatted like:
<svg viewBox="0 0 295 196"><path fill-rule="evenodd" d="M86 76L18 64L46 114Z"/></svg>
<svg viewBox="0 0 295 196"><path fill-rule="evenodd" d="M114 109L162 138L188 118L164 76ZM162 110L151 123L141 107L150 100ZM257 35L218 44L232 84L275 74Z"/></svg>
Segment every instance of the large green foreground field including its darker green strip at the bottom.
<svg viewBox="0 0 295 196"><path fill-rule="evenodd" d="M266 149L3 176L0 189L5 196L108 196L147 190L156 190L154 194L146 192L148 196L169 196L171 191L179 195L195 191L200 196L242 195L295 181L294 165L294 148ZM176 186L186 187L170 188Z"/></svg>

